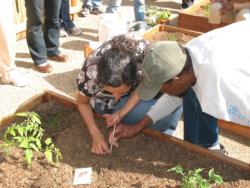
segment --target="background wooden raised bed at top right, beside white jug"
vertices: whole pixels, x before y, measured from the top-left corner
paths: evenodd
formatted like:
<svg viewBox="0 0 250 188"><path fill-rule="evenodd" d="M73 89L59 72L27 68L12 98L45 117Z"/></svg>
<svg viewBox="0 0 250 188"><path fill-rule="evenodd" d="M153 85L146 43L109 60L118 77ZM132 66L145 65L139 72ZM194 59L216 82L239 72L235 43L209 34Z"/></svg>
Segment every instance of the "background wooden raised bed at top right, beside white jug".
<svg viewBox="0 0 250 188"><path fill-rule="evenodd" d="M208 22L210 3L210 0L200 0L193 6L181 11L178 17L178 27L199 32L208 32L228 25L228 23L210 24Z"/></svg>

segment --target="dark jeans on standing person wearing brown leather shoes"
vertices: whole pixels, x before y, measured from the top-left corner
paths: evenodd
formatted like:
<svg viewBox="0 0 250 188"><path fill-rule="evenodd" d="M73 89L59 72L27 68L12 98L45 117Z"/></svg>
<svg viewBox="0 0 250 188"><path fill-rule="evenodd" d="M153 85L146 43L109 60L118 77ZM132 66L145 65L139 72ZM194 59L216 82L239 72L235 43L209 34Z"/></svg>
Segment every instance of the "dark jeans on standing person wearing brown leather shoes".
<svg viewBox="0 0 250 188"><path fill-rule="evenodd" d="M34 63L40 65L47 61L47 56L60 53L59 10L61 0L25 0L25 6L27 14L27 44ZM45 19L42 26L43 10Z"/></svg>

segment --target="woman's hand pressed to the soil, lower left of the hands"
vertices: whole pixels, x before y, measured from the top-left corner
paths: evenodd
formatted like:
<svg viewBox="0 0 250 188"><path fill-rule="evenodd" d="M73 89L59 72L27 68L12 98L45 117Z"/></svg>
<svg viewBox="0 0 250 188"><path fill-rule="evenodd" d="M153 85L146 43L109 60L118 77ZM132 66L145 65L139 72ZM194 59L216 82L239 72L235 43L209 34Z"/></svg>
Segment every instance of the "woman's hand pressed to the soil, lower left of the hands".
<svg viewBox="0 0 250 188"><path fill-rule="evenodd" d="M91 152L97 155L106 155L110 153L108 144L101 133L93 136Z"/></svg>

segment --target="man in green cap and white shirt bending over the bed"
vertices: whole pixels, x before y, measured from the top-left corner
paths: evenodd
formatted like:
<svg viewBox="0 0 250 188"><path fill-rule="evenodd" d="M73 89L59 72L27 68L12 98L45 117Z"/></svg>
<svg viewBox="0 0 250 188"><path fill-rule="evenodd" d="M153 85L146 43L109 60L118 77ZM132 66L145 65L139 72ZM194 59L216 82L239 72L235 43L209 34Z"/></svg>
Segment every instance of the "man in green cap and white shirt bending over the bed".
<svg viewBox="0 0 250 188"><path fill-rule="evenodd" d="M149 100L159 91L165 94L134 126L120 123L110 134L110 143L118 146L119 139L133 137L181 103L184 139L205 148L220 149L218 119L250 126L249 33L250 22L243 21L203 34L185 46L174 41L153 45L144 58L143 82L132 99Z"/></svg>

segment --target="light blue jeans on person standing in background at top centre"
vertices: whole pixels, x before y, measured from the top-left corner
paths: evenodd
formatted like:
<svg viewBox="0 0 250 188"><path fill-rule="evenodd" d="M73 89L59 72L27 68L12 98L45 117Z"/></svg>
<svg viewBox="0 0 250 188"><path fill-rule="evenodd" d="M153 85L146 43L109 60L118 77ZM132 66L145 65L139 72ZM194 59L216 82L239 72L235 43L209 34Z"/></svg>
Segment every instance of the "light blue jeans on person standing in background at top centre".
<svg viewBox="0 0 250 188"><path fill-rule="evenodd" d="M122 0L110 0L106 9L107 13L116 13L121 6ZM145 0L134 0L134 14L136 21L145 19Z"/></svg>

